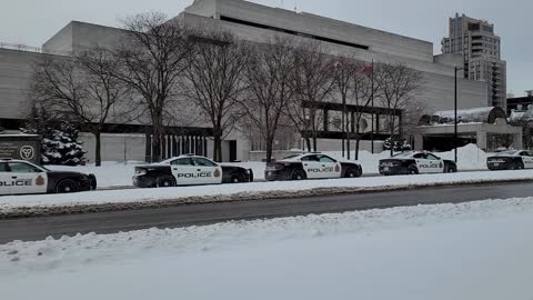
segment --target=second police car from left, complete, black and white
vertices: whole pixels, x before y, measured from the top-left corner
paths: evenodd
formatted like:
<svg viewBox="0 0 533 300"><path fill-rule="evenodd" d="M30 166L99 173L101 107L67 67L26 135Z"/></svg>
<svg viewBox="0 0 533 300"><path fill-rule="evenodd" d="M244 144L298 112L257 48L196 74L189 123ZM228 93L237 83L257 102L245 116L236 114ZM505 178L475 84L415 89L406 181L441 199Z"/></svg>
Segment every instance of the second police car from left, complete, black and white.
<svg viewBox="0 0 533 300"><path fill-rule="evenodd" d="M208 158L181 156L159 163L135 167L133 186L138 188L170 188L252 182L253 171L222 166Z"/></svg>

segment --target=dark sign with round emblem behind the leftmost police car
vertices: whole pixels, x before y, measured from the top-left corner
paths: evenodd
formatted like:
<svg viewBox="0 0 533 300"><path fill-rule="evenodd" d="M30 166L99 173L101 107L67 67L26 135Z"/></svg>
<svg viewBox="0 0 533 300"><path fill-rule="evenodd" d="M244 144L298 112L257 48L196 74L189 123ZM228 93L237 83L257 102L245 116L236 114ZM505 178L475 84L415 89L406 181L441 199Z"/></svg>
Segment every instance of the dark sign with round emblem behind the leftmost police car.
<svg viewBox="0 0 533 300"><path fill-rule="evenodd" d="M40 136L0 134L0 158L41 163Z"/></svg>

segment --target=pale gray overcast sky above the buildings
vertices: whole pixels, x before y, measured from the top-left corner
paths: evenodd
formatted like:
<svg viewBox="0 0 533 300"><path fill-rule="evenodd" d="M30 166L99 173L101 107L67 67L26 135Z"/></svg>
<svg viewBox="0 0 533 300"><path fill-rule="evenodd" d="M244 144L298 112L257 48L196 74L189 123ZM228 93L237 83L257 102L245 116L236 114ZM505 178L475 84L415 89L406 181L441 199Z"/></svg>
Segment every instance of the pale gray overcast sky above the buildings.
<svg viewBox="0 0 533 300"><path fill-rule="evenodd" d="M115 27L120 19L139 12L163 11L177 16L192 0L2 0L0 41L40 46L70 20ZM495 23L507 61L507 90L522 96L533 89L533 33L530 0L253 0L273 7L308 11L356 24L428 40L440 53L447 34L447 18L455 12Z"/></svg>

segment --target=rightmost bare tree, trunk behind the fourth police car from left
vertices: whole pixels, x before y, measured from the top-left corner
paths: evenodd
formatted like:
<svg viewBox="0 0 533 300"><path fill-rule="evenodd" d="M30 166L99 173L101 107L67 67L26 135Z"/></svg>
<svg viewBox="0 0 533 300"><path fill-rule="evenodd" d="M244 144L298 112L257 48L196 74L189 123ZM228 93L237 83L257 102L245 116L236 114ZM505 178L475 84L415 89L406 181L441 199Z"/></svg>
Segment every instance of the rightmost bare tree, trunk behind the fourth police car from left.
<svg viewBox="0 0 533 300"><path fill-rule="evenodd" d="M380 87L379 100L390 112L388 129L391 134L391 144L395 144L396 124L401 122L396 116L414 101L422 84L422 74L401 63L380 63L374 66L379 71L374 72L374 80ZM391 147L391 156L394 147Z"/></svg>

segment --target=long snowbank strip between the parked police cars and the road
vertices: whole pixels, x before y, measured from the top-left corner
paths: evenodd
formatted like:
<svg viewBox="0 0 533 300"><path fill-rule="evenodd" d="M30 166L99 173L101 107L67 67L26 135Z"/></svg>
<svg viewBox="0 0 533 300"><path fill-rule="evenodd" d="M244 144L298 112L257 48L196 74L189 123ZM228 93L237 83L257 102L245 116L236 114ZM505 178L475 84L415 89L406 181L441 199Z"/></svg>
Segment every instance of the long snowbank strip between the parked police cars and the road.
<svg viewBox="0 0 533 300"><path fill-rule="evenodd" d="M533 170L369 177L358 179L305 180L298 182L252 182L168 189L90 191L71 194L6 196L0 197L0 217L84 212L83 207L87 207L84 209L88 211L95 211L98 208L94 206L109 203L122 203L122 206L108 206L103 210L124 210L158 204L260 201L262 199L274 198L286 199L291 197L506 181L533 181ZM72 210L72 207L77 209Z"/></svg>

